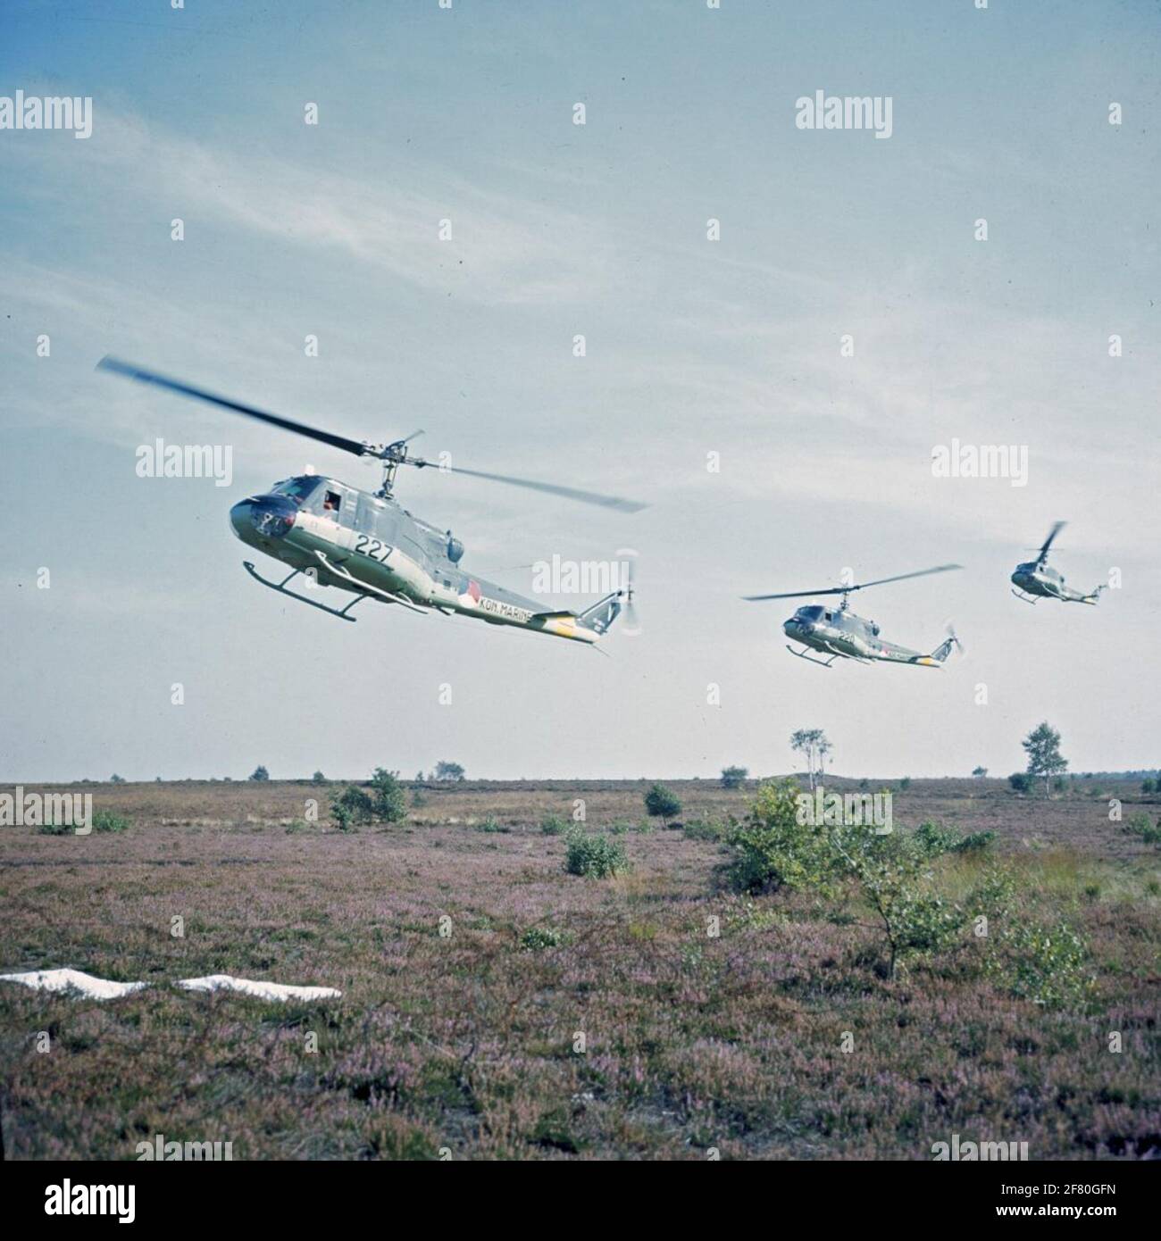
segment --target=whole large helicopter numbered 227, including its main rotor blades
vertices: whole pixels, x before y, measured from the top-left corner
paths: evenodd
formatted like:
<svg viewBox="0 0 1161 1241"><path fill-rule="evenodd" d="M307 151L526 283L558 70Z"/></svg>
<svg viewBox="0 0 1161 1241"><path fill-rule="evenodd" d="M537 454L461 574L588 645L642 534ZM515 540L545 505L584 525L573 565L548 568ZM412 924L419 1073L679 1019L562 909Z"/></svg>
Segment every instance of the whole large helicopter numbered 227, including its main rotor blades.
<svg viewBox="0 0 1161 1241"><path fill-rule="evenodd" d="M438 530L402 508L394 495L395 475L400 465L413 465L416 469L432 465L443 472L562 495L618 513L636 513L646 508L643 504L458 465L451 470L422 457L410 455L407 446L416 436L422 434L420 431L389 444L360 443L358 439L319 431L216 396L115 357L106 356L97 366L98 370L207 401L222 410L318 439L332 448L341 448L355 457L374 457L382 463L382 485L374 494L338 479L302 474L276 483L269 491L233 505L230 522L237 537L291 567L282 581L272 582L251 561L243 561L251 577L272 591L288 594L312 608L320 608L340 620L354 622L356 618L350 614L351 609L364 599L375 599L380 603L397 603L411 612L442 612L445 616L458 613L488 624L514 625L531 633L589 644L599 642L622 611L632 620L632 580L625 588L613 591L592 607L576 613L545 608L543 603L466 573L459 567L463 544L449 530ZM345 607L333 608L287 589L288 583L299 575L307 576L308 586L334 586L355 597Z"/></svg>

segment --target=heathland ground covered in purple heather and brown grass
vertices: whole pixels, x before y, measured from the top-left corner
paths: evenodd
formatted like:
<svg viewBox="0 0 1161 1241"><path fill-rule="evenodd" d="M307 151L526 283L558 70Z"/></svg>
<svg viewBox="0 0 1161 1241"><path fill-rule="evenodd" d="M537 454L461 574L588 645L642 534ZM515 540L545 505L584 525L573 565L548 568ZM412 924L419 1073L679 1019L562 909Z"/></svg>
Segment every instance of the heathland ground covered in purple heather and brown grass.
<svg viewBox="0 0 1161 1241"><path fill-rule="evenodd" d="M620 834L631 871L567 874L541 820L584 798L586 831L637 822L648 782L428 788L353 834L299 827L308 782L102 786L129 830L0 838L0 965L163 985L101 1004L0 984L6 1154L125 1159L164 1133L236 1159L926 1159L952 1132L1034 1159L1156 1154L1157 850L1100 803L1001 784L915 779L895 817L996 831L1027 912L1088 943L1084 1006L1011 997L970 937L885 980L863 911L734 896L699 833ZM687 823L749 795L672 786ZM956 855L949 881L966 894L983 865ZM344 995L164 985L207 973Z"/></svg>

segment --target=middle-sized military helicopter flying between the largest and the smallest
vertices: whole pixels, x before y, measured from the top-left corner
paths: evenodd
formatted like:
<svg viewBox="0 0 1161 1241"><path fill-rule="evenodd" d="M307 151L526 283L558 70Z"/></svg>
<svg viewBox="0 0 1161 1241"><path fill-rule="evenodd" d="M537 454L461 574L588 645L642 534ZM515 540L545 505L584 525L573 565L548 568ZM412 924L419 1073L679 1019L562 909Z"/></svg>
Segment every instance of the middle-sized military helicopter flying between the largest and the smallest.
<svg viewBox="0 0 1161 1241"><path fill-rule="evenodd" d="M827 608L821 604L811 604L798 608L797 612L782 625L782 632L787 638L803 644L803 650L795 650L787 644L786 649L808 664L818 664L821 668L829 668L836 659L854 659L861 664L884 661L888 664L920 664L924 668L939 668L951 654L952 647L962 650L960 639L955 630L947 625L947 638L931 652L924 655L921 652L910 650L906 647L897 647L893 642L887 642L879 637L879 627L874 620L865 620L848 611L849 596L854 591L865 591L868 586L883 586L887 582L901 582L909 577L926 577L928 573L946 573L952 568L962 568L962 565L937 565L935 568L921 568L915 573L899 573L898 577L879 577L873 582L859 582L854 586L833 586L821 591L791 591L786 594L746 594L744 598L749 603L757 603L764 599L800 599L816 594L841 594L842 602L838 608ZM806 653L807 649L822 652L829 659L815 659Z"/></svg>

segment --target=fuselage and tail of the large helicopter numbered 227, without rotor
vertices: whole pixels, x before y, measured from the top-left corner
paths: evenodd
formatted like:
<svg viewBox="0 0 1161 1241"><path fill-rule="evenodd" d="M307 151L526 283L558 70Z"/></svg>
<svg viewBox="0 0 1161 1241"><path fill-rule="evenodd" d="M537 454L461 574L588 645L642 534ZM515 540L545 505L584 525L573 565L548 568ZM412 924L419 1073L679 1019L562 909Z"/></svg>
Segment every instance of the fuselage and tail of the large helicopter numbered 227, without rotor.
<svg viewBox="0 0 1161 1241"><path fill-rule="evenodd" d="M264 495L236 504L230 521L242 542L305 575L310 585L416 611L454 613L584 643L597 642L621 611L623 592L577 616L467 573L458 565L463 545L449 531L413 516L390 495L374 495L337 479L287 479ZM252 566L247 568L273 586Z"/></svg>

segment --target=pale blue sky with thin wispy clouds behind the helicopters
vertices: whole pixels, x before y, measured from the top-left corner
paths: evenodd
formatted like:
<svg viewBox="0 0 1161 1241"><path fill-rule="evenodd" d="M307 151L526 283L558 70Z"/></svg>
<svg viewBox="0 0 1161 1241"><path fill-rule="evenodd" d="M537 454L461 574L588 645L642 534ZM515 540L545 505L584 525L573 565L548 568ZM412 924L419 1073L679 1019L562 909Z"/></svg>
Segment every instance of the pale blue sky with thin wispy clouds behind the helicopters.
<svg viewBox="0 0 1161 1241"><path fill-rule="evenodd" d="M0 130L0 779L772 772L810 726L842 773L1005 774L1042 719L1075 771L1161 762L1155 0L7 0L2 22L0 96L92 97L93 132ZM890 97L890 138L797 128L816 91ZM230 505L374 467L94 374L106 352L647 501L401 480L524 593L538 560L636 549L642 633L603 658L263 591ZM138 478L158 437L230 444L232 485ZM1027 485L934 478L952 439L1027 446ZM1057 519L1072 582L1120 571L1098 608L1010 594ZM954 618L967 654L940 671L812 668L793 604L740 601L946 561L857 597L923 650Z"/></svg>

